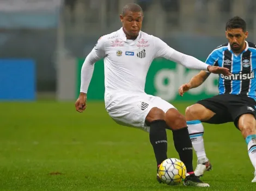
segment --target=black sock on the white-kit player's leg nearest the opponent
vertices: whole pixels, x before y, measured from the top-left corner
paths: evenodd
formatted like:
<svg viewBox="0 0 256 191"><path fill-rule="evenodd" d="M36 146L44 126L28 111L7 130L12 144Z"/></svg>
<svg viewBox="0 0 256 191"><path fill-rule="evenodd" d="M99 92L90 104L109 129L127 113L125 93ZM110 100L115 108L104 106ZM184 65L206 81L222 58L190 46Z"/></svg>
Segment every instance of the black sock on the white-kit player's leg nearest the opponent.
<svg viewBox="0 0 256 191"><path fill-rule="evenodd" d="M180 160L185 164L188 174L194 174L193 170L193 150L190 135L187 127L173 131L173 141Z"/></svg>

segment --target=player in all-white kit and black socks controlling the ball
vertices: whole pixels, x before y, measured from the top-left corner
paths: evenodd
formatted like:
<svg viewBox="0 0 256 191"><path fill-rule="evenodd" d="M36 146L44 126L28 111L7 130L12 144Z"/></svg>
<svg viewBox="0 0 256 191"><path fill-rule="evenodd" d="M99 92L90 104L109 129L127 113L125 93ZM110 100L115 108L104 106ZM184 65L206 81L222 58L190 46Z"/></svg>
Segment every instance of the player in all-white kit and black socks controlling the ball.
<svg viewBox="0 0 256 191"><path fill-rule="evenodd" d="M135 3L127 4L120 15L123 27L102 36L83 63L81 90L75 106L78 112L86 109L87 90L94 63L104 59L105 107L118 124L141 128L149 132L157 168L167 157L166 129L173 131L173 141L180 160L187 168L186 186L208 187L194 175L192 143L186 119L172 104L144 92L151 62L166 58L187 68L230 75L227 68L215 67L177 52L159 38L141 31L143 11ZM161 182L157 174L157 180Z"/></svg>

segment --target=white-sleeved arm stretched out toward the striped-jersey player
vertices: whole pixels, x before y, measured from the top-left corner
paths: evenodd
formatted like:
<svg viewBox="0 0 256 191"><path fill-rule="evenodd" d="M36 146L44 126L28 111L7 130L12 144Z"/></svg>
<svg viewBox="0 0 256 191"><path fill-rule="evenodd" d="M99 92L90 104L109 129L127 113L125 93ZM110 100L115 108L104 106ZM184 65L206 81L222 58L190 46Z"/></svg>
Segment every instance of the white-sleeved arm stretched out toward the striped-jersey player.
<svg viewBox="0 0 256 191"><path fill-rule="evenodd" d="M193 56L182 54L173 48L170 48L165 42L155 37L155 58L163 57L168 60L180 63L181 65L191 68L198 69L201 71L208 71L215 74L231 75L228 68L211 66L207 63L204 63Z"/></svg>

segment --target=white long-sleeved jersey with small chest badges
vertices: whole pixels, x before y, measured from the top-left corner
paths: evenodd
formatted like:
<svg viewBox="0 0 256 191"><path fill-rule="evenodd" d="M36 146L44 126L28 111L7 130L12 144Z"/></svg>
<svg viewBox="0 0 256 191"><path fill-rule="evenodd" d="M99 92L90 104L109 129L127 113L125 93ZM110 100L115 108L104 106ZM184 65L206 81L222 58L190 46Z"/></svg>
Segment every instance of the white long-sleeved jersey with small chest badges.
<svg viewBox="0 0 256 191"><path fill-rule="evenodd" d="M151 62L166 58L185 67L207 70L209 65L170 48L159 38L139 32L136 40L127 40L123 28L102 36L82 67L81 92L87 93L94 63L104 59L105 94L116 92L144 92L145 80Z"/></svg>

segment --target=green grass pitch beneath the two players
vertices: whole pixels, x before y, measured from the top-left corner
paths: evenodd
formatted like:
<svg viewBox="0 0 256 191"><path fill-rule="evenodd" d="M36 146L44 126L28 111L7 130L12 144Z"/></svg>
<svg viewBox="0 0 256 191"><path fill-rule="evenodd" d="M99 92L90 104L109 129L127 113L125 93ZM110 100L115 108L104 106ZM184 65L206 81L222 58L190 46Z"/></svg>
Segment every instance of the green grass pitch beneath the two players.
<svg viewBox="0 0 256 191"><path fill-rule="evenodd" d="M184 113L187 104L174 104ZM115 124L103 103L0 103L0 190L256 190L247 145L232 123L205 124L210 188L155 180L149 135ZM168 131L168 157L178 157ZM196 167L196 155L194 155Z"/></svg>

